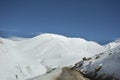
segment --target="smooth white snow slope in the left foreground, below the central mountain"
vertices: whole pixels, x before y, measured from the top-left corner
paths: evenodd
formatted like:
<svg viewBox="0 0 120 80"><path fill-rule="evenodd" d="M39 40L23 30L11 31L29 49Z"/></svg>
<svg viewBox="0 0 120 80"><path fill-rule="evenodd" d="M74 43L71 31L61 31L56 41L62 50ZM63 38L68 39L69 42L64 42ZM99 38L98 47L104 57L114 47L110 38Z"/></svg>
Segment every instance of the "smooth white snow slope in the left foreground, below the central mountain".
<svg viewBox="0 0 120 80"><path fill-rule="evenodd" d="M27 59L14 49L16 42L0 41L0 80L23 80L46 72L42 64Z"/></svg>

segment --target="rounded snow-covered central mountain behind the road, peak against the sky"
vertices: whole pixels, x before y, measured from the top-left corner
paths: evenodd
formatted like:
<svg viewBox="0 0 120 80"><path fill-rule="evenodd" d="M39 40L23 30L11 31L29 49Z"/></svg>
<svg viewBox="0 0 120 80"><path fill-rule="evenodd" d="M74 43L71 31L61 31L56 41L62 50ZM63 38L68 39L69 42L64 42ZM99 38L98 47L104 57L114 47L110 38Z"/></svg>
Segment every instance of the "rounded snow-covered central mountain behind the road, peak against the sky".
<svg viewBox="0 0 120 80"><path fill-rule="evenodd" d="M48 33L20 41L15 47L24 56L49 67L71 65L84 56L105 51L103 46L92 41Z"/></svg>

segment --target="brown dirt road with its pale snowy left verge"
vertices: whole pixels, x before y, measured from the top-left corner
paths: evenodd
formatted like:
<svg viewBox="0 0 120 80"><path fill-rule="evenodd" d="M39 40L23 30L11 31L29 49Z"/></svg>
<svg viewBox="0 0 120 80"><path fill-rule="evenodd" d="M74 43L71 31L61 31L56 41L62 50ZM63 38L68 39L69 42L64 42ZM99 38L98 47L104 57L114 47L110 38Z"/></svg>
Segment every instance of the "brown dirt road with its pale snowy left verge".
<svg viewBox="0 0 120 80"><path fill-rule="evenodd" d="M68 67L54 70L53 72L47 73L42 76L30 78L27 80L89 80L83 77L82 74L75 70L71 70Z"/></svg>

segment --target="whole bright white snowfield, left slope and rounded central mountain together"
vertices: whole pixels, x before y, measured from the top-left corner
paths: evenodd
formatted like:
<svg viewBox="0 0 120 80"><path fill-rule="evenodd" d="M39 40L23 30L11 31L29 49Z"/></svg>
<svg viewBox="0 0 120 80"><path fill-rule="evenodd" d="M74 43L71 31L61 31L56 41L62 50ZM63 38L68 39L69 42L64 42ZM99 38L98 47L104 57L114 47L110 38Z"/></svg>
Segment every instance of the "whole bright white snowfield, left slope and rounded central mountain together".
<svg viewBox="0 0 120 80"><path fill-rule="evenodd" d="M106 46L49 33L23 40L0 38L0 80L40 76L52 68L74 65L83 57L116 47Z"/></svg>

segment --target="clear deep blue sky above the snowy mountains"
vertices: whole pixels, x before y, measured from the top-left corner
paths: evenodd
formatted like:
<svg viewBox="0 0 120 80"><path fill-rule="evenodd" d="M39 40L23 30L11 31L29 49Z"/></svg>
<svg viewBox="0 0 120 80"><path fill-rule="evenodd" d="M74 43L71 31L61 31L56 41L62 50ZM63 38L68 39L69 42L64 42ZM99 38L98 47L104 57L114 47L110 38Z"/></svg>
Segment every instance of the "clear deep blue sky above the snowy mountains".
<svg viewBox="0 0 120 80"><path fill-rule="evenodd" d="M120 38L120 0L0 0L0 32L49 32L104 44Z"/></svg>

